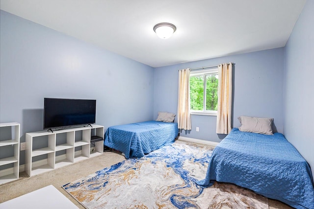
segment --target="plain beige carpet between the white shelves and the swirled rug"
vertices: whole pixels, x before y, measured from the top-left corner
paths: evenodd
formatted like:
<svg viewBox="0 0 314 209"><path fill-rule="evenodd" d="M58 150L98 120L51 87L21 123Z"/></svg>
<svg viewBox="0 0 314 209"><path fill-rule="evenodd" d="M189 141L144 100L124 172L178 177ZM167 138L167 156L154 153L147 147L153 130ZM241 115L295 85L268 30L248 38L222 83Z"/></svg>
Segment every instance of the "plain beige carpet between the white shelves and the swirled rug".
<svg viewBox="0 0 314 209"><path fill-rule="evenodd" d="M118 153L105 152L101 156L90 158L32 177L28 177L25 172L22 172L20 173L19 180L0 185L0 203L19 197L44 186L53 185L74 204L76 204L78 208L84 209L84 207L82 207L61 186L123 160L125 160L124 156ZM219 185L222 187L224 186L223 183L219 183L218 186ZM291 209L291 207L276 200L269 199L268 204L269 209ZM220 207L217 206L216 208Z"/></svg>

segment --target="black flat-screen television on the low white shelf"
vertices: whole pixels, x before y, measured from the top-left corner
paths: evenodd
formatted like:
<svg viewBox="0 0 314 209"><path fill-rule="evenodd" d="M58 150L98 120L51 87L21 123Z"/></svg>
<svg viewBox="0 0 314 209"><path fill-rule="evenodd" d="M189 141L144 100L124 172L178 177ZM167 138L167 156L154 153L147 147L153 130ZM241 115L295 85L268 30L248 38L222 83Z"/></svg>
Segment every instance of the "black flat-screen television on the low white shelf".
<svg viewBox="0 0 314 209"><path fill-rule="evenodd" d="M44 129L93 124L96 100L44 98Z"/></svg>

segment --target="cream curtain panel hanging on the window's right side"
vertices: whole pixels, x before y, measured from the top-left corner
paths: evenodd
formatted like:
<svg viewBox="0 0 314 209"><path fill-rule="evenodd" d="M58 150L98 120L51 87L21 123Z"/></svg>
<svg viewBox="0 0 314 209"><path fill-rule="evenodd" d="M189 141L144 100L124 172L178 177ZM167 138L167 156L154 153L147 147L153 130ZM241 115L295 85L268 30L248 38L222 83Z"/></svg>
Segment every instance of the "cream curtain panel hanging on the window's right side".
<svg viewBox="0 0 314 209"><path fill-rule="evenodd" d="M218 66L218 108L217 134L229 134L231 131L232 106L232 63Z"/></svg>

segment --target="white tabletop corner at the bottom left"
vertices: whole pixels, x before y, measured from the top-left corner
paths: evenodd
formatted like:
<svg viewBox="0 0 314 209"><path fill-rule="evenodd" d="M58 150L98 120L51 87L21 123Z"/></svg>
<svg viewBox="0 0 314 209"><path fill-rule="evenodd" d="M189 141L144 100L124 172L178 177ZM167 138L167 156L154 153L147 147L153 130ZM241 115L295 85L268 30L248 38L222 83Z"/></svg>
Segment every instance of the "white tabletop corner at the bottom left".
<svg viewBox="0 0 314 209"><path fill-rule="evenodd" d="M78 209L54 186L49 185L0 204L0 209Z"/></svg>

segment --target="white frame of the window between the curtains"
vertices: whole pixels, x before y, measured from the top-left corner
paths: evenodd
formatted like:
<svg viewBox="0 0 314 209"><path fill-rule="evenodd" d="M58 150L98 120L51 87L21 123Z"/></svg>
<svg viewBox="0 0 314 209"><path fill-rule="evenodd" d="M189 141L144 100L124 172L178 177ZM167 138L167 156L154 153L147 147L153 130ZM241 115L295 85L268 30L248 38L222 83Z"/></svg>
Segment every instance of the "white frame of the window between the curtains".
<svg viewBox="0 0 314 209"><path fill-rule="evenodd" d="M190 115L199 115L199 116L217 116L217 111L216 110L204 110L206 108L206 75L218 75L218 80L219 80L219 74L218 74L218 67L211 68L211 69L206 69L206 70L192 70L190 72L190 77L193 76L204 76L204 86L203 86L203 110L191 110L190 108ZM218 91L218 90L217 90ZM190 98L191 99L191 98Z"/></svg>

